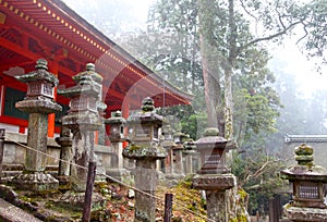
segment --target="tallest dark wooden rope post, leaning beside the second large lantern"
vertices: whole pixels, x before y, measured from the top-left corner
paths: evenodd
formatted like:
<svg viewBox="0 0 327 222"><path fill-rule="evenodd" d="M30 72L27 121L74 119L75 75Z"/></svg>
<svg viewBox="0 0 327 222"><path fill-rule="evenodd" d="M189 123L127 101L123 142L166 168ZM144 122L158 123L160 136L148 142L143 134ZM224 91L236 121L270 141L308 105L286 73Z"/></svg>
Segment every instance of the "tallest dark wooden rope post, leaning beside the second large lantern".
<svg viewBox="0 0 327 222"><path fill-rule="evenodd" d="M96 174L96 162L89 161L82 222L89 222L90 220L92 194Z"/></svg>

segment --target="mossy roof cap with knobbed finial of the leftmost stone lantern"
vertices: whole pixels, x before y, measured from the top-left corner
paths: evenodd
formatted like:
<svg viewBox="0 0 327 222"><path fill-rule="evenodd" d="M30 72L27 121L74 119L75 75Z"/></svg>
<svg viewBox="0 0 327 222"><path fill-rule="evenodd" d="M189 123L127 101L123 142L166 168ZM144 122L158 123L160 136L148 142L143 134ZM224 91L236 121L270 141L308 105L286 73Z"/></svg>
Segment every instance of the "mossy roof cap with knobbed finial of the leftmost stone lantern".
<svg viewBox="0 0 327 222"><path fill-rule="evenodd" d="M45 59L38 59L35 65L36 71L32 71L27 74L16 76L20 82L29 83L37 81L45 81L51 83L53 86L57 86L59 81L50 72L48 72L48 62Z"/></svg>

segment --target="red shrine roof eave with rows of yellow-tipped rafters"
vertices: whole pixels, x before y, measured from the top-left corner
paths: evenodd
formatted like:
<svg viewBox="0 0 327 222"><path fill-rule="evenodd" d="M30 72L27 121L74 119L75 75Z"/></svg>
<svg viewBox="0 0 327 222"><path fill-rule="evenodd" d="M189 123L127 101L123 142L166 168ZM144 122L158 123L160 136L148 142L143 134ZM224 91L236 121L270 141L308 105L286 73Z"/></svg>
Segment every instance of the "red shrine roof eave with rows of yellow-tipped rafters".
<svg viewBox="0 0 327 222"><path fill-rule="evenodd" d="M107 84L104 85L104 91L107 90L105 98L109 99L106 101L117 109L121 109L121 102L129 92L138 96L136 100L130 100L133 104L146 96L153 97L162 106L191 104L194 98L165 82L60 0L4 0L0 1L0 8L8 16L8 20L4 20L5 26L2 27L11 28L23 36L15 38L15 41L10 40L12 36L1 38L0 48L5 52L2 53L2 58L5 58L7 52L15 54L15 59L20 59L13 60L16 61L16 66L21 65L20 61L28 65L38 58L45 58L51 60L51 63L57 63L58 78L64 79L61 83L70 84L69 81L75 72L82 71L82 65L93 62L99 73L104 74L104 84ZM36 46L33 50L26 44L28 38ZM56 54L58 49L61 51ZM59 63L66 60L68 54L70 61ZM68 65L70 63L71 66ZM117 83L124 84L121 85L124 87L117 86L121 91L116 90L113 84Z"/></svg>

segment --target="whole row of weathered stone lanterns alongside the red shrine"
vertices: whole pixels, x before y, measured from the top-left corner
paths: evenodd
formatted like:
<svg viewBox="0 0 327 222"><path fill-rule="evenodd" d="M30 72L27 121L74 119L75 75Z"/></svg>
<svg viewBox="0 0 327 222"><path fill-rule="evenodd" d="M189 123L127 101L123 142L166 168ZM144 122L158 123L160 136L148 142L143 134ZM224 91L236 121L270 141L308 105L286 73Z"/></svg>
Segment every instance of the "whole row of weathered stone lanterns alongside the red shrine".
<svg viewBox="0 0 327 222"><path fill-rule="evenodd" d="M89 63L86 71L73 76L75 86L58 90L59 95L70 98L71 103L69 112L62 118L61 135L56 139L62 147L60 157L63 160L60 161L57 178L45 172L47 157L44 153L47 153L48 114L61 110L53 100L58 79L48 72L47 61L43 59L37 61L36 71L23 74L17 79L27 84L26 98L17 102L16 108L29 113L27 146L36 151L27 150L25 171L13 178L13 184L17 188L44 193L58 189L60 181L73 189L65 193L61 201L83 206L87 165L95 161L94 132L104 125L101 112L106 104L101 102L102 77ZM192 165L196 151L201 156L202 166L193 180L193 186L206 190L209 218L226 220L226 212L219 210L217 214L217 206L226 205L222 198L226 197L226 190L235 186L235 178L225 162L226 151L233 147L229 145L230 141L218 136L218 130L208 128L197 141L186 139L182 133L172 134L168 125L164 126L164 118L155 113L154 100L149 97L142 101L141 111L128 120L117 111L105 123L110 126L109 138L117 152L117 160L108 173L117 177L124 175L123 158L130 159L135 162L132 173L136 188L149 194L136 190L135 221L155 220L154 192L158 182L158 162L165 165L168 178L181 178L184 172L195 173ZM124 135L126 124L129 137ZM123 149L122 144L126 140L129 145ZM183 156L186 171L183 170ZM102 201L96 195L93 198L97 202Z"/></svg>

